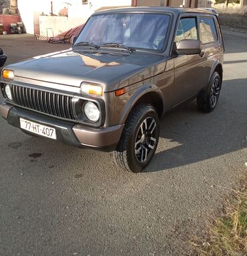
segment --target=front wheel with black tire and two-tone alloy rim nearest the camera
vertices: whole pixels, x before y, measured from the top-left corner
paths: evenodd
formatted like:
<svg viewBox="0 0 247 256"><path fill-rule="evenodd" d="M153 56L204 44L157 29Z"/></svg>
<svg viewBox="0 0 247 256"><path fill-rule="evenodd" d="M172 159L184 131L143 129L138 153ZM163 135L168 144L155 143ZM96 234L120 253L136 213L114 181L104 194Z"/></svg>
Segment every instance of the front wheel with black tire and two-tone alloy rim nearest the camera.
<svg viewBox="0 0 247 256"><path fill-rule="evenodd" d="M141 172L154 156L159 135L156 109L151 105L135 106L123 128L117 149L113 151L115 164L129 172Z"/></svg>

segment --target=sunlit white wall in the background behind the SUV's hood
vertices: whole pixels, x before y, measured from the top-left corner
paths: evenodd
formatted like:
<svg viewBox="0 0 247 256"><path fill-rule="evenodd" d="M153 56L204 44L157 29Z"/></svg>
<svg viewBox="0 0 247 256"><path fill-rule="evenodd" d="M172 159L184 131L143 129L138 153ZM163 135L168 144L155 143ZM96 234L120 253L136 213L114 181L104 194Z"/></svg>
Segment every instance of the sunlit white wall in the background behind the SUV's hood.
<svg viewBox="0 0 247 256"><path fill-rule="evenodd" d="M65 2L70 2L71 5L67 5ZM54 35L57 31L65 31L71 27L85 23L88 17L96 9L104 6L131 6L132 0L88 0L87 5L82 5L82 0L73 1L61 1L53 0L53 13L58 14L61 9L68 7L68 19L65 21L62 17L41 17L41 27L37 29L34 26L34 14L47 14L49 15L51 11L51 0L18 0L18 8L21 14L21 19L25 24L26 31L29 34L34 34L35 31L40 31L43 36L46 36L46 28L53 27ZM47 18L45 18L47 17ZM52 24L53 21L54 25ZM61 24L59 24L61 22ZM65 30L64 30L65 29Z"/></svg>

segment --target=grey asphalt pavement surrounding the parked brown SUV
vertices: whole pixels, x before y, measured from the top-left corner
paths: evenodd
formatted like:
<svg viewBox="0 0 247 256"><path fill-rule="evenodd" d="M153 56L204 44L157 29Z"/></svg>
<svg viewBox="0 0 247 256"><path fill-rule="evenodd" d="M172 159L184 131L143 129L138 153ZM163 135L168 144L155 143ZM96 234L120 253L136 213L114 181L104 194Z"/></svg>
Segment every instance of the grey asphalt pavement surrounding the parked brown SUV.
<svg viewBox="0 0 247 256"><path fill-rule="evenodd" d="M1 36L8 63L68 47ZM161 121L142 174L111 153L29 137L0 117L0 255L184 255L238 186L247 162L247 44L224 34L220 101L193 101Z"/></svg>

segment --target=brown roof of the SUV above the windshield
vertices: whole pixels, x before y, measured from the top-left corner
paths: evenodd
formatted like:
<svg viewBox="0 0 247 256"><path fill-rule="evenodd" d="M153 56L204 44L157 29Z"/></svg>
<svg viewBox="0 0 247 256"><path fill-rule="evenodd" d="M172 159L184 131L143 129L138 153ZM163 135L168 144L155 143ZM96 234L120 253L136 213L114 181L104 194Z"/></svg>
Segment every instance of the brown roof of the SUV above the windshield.
<svg viewBox="0 0 247 256"><path fill-rule="evenodd" d="M184 8L184 7L124 7L124 8L113 8L113 9L104 9L101 11L96 11L93 15L97 15L99 13L122 13L122 12L152 12L152 13L174 13L179 15L180 13L206 13L214 15L214 13L210 10L206 9L198 9L198 8Z"/></svg>

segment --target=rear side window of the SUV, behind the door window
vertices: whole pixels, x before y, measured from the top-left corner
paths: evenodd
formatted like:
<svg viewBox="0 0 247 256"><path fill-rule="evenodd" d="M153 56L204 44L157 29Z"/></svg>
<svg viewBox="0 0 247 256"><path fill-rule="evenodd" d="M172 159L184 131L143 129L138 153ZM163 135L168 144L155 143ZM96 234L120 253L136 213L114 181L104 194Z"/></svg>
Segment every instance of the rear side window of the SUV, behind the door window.
<svg viewBox="0 0 247 256"><path fill-rule="evenodd" d="M200 40L202 44L210 44L218 40L216 25L213 18L200 18Z"/></svg>

